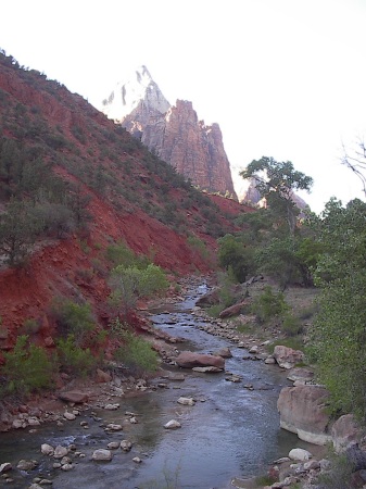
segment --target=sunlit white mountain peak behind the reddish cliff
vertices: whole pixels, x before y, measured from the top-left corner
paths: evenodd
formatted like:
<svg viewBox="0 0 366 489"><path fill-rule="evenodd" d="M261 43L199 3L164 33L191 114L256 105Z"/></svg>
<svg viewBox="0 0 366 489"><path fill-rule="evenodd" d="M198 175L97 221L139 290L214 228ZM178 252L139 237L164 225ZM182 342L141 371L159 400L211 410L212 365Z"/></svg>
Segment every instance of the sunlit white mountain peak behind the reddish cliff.
<svg viewBox="0 0 366 489"><path fill-rule="evenodd" d="M171 106L143 64L116 84L111 95L102 101L102 112L109 118L122 122L141 102L161 114Z"/></svg>

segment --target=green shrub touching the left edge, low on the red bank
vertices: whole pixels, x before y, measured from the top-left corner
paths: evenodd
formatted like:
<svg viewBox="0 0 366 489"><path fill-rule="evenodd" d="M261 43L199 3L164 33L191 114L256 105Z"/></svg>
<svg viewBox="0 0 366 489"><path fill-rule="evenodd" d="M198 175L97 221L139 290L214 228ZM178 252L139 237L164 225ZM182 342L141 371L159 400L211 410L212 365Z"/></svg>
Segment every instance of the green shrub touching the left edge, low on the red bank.
<svg viewBox="0 0 366 489"><path fill-rule="evenodd" d="M28 337L21 335L13 351L4 353L2 375L7 378L7 392L26 396L52 386L54 363L46 351L28 344Z"/></svg>

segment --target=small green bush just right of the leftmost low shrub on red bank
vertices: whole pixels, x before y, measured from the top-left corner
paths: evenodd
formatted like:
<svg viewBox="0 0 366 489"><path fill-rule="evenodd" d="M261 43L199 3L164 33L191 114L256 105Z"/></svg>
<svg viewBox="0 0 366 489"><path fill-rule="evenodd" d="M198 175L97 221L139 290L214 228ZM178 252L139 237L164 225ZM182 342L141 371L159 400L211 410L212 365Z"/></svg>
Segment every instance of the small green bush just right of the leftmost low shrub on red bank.
<svg viewBox="0 0 366 489"><path fill-rule="evenodd" d="M60 367L77 377L86 377L97 366L98 360L89 348L84 349L75 341L74 335L60 338L58 343L58 361Z"/></svg>

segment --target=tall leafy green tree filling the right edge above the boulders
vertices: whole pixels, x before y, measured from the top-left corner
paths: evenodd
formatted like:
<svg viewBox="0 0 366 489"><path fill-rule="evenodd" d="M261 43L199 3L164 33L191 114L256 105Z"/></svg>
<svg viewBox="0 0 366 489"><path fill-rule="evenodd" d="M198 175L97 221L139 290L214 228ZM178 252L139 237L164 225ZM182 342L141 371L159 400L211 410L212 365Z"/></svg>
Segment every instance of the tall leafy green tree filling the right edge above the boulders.
<svg viewBox="0 0 366 489"><path fill-rule="evenodd" d="M333 411L366 418L366 203L330 200L319 223L319 313L311 352Z"/></svg>

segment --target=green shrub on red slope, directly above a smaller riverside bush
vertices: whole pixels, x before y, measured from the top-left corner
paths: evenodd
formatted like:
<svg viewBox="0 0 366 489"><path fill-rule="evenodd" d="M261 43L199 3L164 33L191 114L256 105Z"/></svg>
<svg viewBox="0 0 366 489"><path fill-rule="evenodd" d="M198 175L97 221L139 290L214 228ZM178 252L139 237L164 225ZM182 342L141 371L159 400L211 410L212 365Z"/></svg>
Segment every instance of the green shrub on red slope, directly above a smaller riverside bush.
<svg viewBox="0 0 366 489"><path fill-rule="evenodd" d="M78 346L81 346L94 328L96 322L90 304L77 304L68 299L55 299L52 313L60 333L66 337L73 335Z"/></svg>

